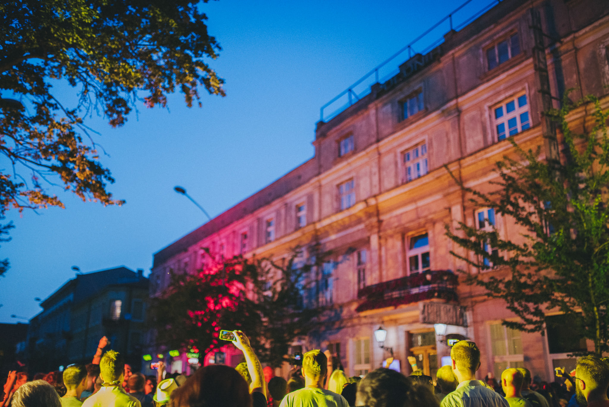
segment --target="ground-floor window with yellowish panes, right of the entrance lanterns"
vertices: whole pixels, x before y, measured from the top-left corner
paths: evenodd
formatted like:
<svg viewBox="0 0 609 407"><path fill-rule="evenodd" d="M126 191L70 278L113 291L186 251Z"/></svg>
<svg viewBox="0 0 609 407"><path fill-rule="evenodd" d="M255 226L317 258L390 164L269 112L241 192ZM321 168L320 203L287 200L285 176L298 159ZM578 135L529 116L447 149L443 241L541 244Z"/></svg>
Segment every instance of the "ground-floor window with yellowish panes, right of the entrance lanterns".
<svg viewBox="0 0 609 407"><path fill-rule="evenodd" d="M509 367L524 367L523 342L521 333L504 326L501 322L492 323L490 330L491 351L495 377Z"/></svg>

